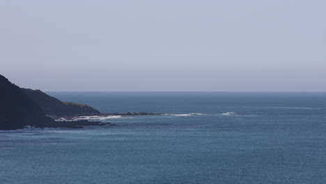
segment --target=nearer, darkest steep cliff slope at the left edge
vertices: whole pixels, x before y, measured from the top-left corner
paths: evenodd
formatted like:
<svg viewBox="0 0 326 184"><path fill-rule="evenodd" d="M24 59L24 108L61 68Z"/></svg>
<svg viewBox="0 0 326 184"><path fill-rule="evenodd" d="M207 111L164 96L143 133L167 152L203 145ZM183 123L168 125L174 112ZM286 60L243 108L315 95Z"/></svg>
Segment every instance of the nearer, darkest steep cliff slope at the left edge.
<svg viewBox="0 0 326 184"><path fill-rule="evenodd" d="M0 75L0 130L53 122L18 86Z"/></svg>

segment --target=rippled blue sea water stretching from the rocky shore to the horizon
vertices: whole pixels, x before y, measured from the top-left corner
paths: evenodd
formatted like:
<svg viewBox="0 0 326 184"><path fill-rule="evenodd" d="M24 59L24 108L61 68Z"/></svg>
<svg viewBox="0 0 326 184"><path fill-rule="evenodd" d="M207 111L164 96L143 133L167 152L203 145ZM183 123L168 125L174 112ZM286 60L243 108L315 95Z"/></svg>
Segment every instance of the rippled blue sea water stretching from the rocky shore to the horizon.
<svg viewBox="0 0 326 184"><path fill-rule="evenodd" d="M0 132L0 183L326 183L326 93L50 92L117 126Z"/></svg>

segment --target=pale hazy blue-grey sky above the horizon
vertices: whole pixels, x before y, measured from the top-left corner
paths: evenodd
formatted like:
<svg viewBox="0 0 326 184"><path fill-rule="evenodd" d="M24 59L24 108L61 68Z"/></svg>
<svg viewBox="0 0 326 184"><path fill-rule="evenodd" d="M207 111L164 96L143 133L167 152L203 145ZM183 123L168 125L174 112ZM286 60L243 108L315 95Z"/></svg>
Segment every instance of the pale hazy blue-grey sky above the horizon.
<svg viewBox="0 0 326 184"><path fill-rule="evenodd" d="M326 91L325 0L0 0L0 74L44 91Z"/></svg>

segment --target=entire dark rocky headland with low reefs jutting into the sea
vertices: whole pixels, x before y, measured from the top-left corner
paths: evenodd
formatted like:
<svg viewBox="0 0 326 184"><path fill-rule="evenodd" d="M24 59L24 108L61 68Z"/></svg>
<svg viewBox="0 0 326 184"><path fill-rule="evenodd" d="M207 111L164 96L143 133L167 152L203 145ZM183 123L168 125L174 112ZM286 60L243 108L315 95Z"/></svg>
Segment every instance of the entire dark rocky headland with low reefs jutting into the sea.
<svg viewBox="0 0 326 184"><path fill-rule="evenodd" d="M150 116L152 112L101 113L89 105L62 102L40 90L23 89L0 75L0 130L35 128L83 128L115 125L100 121L58 121L76 116ZM57 121L55 121L56 119Z"/></svg>

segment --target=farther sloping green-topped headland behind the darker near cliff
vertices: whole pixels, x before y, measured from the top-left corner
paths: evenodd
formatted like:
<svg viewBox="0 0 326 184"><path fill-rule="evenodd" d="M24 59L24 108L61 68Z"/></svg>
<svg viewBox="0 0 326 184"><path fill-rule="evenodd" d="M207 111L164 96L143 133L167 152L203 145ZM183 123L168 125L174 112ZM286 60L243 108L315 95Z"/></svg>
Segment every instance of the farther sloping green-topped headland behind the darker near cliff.
<svg viewBox="0 0 326 184"><path fill-rule="evenodd" d="M33 102L36 102L47 115L51 116L95 116L98 110L93 107L73 102L62 102L40 90L20 89Z"/></svg>

